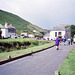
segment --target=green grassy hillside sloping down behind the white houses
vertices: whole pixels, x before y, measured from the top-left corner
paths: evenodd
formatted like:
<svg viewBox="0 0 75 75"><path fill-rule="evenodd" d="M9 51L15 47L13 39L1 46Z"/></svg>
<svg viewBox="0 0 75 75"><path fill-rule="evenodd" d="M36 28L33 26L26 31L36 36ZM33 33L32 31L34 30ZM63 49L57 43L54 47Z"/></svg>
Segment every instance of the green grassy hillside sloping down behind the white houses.
<svg viewBox="0 0 75 75"><path fill-rule="evenodd" d="M43 30L42 28L31 24L30 22L22 19L19 16L0 10L0 24L4 25L5 22L7 22L8 24L12 24L13 27L16 28L18 34L26 31L28 31L28 33L33 33L33 30L38 31L39 34L40 32L46 33L46 31Z"/></svg>

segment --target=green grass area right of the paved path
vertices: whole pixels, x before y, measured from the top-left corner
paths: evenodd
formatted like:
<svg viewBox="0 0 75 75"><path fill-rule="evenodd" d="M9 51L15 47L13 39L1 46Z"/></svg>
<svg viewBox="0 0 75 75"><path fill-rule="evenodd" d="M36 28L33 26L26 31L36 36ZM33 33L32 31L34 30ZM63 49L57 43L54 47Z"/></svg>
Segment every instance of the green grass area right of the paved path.
<svg viewBox="0 0 75 75"><path fill-rule="evenodd" d="M61 67L59 68L60 75L75 75L75 47L65 58Z"/></svg>

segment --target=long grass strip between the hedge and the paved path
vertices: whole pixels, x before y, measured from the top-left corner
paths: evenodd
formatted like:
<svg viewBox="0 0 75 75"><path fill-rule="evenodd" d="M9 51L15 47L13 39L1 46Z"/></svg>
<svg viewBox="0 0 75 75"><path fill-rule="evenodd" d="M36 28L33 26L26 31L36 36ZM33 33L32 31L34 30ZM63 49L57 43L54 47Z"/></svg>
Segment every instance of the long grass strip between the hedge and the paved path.
<svg viewBox="0 0 75 75"><path fill-rule="evenodd" d="M0 62L7 60L8 55L10 55L11 58L15 58L15 57L25 55L25 54L28 54L31 52L39 51L39 50L44 49L44 48L48 48L48 47L53 46L53 45L54 45L54 42L50 42L50 43L46 43L44 45L34 46L31 48L27 48L27 49L21 49L21 50L11 51L11 52L3 52L3 53L0 53Z"/></svg>

